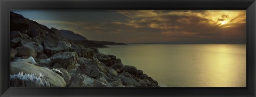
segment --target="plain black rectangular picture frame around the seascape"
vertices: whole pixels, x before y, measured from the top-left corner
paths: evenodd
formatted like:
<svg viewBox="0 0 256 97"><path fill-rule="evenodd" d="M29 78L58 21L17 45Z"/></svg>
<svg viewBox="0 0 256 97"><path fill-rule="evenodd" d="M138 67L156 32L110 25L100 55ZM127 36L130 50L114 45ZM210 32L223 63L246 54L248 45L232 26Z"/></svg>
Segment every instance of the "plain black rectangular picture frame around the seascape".
<svg viewBox="0 0 256 97"><path fill-rule="evenodd" d="M255 91L255 0L1 0L1 96L247 96ZM10 10L246 10L246 87L9 87Z"/></svg>

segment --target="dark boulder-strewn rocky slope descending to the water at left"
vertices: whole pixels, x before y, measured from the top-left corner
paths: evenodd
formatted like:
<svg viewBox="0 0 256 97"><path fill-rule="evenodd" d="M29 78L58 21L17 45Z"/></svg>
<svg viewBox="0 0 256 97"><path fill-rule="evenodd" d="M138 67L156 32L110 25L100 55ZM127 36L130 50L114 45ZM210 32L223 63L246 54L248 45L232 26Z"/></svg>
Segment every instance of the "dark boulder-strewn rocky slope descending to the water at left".
<svg viewBox="0 0 256 97"><path fill-rule="evenodd" d="M157 87L142 70L125 66L115 55L100 53L102 44L81 35L67 39L11 12L10 85L30 87Z"/></svg>

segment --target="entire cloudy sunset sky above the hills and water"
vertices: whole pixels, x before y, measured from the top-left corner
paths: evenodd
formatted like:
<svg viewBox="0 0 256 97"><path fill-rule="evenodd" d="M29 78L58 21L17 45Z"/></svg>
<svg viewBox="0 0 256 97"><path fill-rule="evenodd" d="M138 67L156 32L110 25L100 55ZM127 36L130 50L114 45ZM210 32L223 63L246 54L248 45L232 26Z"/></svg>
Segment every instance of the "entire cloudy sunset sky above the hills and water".
<svg viewBox="0 0 256 97"><path fill-rule="evenodd" d="M246 43L245 10L13 10L49 28L120 43Z"/></svg>

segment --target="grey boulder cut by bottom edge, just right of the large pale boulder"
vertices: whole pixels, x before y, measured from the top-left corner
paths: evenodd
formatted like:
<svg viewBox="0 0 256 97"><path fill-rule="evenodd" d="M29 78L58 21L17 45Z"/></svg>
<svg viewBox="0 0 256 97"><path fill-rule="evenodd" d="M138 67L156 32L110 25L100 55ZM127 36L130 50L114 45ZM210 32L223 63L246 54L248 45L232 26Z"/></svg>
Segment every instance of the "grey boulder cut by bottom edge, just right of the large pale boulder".
<svg viewBox="0 0 256 97"><path fill-rule="evenodd" d="M76 74L70 79L68 87L106 87L106 84L99 82L85 74Z"/></svg>

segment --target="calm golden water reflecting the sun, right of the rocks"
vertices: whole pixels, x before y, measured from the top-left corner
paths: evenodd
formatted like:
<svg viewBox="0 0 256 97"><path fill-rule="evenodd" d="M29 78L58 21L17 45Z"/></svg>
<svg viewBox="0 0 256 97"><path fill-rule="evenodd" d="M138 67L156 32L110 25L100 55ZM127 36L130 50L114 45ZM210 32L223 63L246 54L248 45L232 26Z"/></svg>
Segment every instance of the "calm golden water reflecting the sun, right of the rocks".
<svg viewBox="0 0 256 97"><path fill-rule="evenodd" d="M245 44L107 45L113 54L168 87L245 87Z"/></svg>

